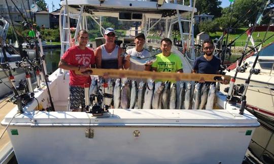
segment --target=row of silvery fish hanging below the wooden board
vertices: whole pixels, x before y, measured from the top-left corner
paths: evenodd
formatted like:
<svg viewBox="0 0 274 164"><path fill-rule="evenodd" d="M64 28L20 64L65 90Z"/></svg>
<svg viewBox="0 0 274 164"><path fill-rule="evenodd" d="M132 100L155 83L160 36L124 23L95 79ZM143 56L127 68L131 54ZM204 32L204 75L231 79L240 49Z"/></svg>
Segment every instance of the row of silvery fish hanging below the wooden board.
<svg viewBox="0 0 274 164"><path fill-rule="evenodd" d="M178 81L149 80L141 81L127 79L124 84L117 78L108 80L104 88L104 78L92 78L90 96L92 100L98 95L111 95L101 97L102 105L123 109L213 109L216 85L197 83L192 92L192 83Z"/></svg>

